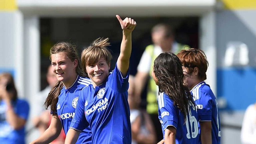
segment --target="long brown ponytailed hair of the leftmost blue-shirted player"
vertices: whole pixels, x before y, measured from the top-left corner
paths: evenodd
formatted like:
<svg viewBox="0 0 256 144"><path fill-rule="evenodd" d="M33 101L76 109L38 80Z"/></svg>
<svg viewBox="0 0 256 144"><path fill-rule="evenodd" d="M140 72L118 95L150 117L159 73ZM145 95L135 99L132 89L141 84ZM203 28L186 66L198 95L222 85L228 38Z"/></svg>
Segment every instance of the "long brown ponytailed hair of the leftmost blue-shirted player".
<svg viewBox="0 0 256 144"><path fill-rule="evenodd" d="M61 42L55 44L50 50L50 60L52 54L57 53L65 53L67 57L73 62L77 59L77 66L76 66L76 73L80 76L85 76L84 71L82 70L81 60L78 57L76 47L70 43ZM55 86L52 87L51 91L49 92L46 100L45 100L45 108L47 109L50 107L53 114L57 112L57 102L58 96L60 95L60 91L63 88L63 83L58 81Z"/></svg>

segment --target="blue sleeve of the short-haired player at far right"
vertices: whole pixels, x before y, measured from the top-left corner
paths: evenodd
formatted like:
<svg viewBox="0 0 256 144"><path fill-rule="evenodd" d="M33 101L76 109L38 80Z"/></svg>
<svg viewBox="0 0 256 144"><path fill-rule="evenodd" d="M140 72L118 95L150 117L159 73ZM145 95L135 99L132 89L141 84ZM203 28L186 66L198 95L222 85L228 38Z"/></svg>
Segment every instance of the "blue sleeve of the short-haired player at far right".
<svg viewBox="0 0 256 144"><path fill-rule="evenodd" d="M201 91L199 99L195 100L197 105L197 114L200 121L212 120L212 99L207 92Z"/></svg>

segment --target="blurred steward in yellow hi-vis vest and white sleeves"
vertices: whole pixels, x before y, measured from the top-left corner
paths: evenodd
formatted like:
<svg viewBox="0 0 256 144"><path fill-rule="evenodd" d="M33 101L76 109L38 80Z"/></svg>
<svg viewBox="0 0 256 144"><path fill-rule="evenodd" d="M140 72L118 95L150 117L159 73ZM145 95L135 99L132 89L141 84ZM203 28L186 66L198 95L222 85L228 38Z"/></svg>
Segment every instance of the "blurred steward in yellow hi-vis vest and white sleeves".
<svg viewBox="0 0 256 144"><path fill-rule="evenodd" d="M152 28L151 36L153 44L146 47L137 67L138 72L135 76L135 98L136 102L140 102L141 93L146 85L147 79L149 78L146 109L154 123L154 129L157 133L157 141L160 141L162 140L162 129L157 114L158 86L155 85L150 74L154 60L159 54L167 51L171 51L176 54L187 46L175 41L171 27L166 24L157 24L154 26Z"/></svg>

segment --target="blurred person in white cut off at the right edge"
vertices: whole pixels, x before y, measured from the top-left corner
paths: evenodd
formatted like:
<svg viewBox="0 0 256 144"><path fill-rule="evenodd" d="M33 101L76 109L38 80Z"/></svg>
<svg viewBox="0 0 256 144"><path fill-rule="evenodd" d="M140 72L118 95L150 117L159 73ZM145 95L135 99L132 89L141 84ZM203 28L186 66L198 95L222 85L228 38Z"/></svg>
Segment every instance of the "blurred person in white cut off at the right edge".
<svg viewBox="0 0 256 144"><path fill-rule="evenodd" d="M256 103L247 107L241 130L242 144L256 144Z"/></svg>

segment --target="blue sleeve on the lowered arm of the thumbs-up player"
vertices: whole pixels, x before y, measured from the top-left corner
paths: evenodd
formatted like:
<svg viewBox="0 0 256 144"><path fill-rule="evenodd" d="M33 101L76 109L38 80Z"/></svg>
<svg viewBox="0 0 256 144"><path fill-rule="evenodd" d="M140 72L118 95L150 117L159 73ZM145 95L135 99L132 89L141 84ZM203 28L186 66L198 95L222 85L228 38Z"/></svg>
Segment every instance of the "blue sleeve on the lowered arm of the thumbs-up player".
<svg viewBox="0 0 256 144"><path fill-rule="evenodd" d="M85 118L85 113L84 113L85 94L86 94L85 91L86 91L86 87L83 88L80 92L77 105L76 105L75 115L70 124L70 128L73 128L79 131L82 131L87 126L89 126L89 123L87 122Z"/></svg>

